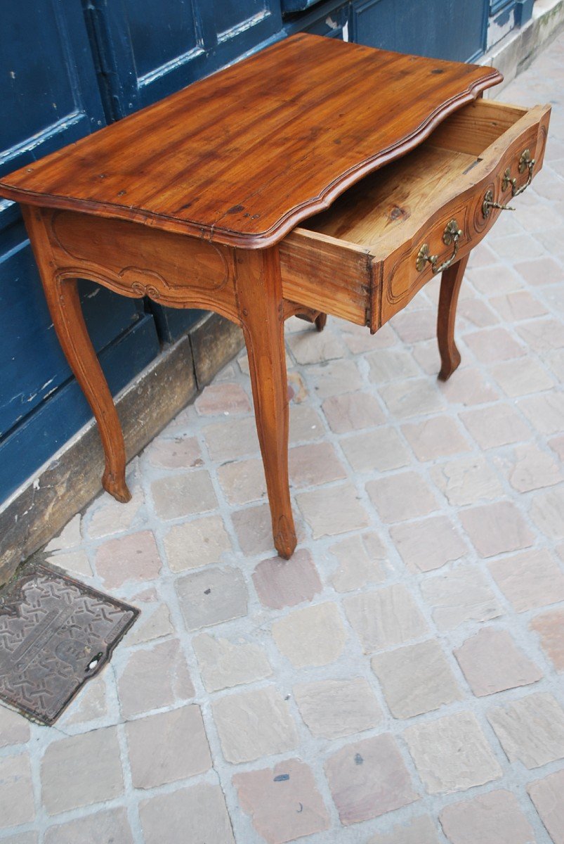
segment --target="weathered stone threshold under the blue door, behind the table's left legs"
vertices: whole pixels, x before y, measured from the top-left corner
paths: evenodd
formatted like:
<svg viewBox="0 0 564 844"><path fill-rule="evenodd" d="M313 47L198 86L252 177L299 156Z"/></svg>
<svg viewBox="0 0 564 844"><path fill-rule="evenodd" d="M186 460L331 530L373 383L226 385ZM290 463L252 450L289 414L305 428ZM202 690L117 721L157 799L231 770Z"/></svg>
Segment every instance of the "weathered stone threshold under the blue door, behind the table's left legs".
<svg viewBox="0 0 564 844"><path fill-rule="evenodd" d="M128 460L168 425L243 346L243 334L206 314L115 398ZM94 420L0 509L0 586L102 489L104 454Z"/></svg>

